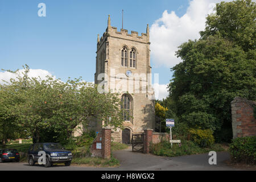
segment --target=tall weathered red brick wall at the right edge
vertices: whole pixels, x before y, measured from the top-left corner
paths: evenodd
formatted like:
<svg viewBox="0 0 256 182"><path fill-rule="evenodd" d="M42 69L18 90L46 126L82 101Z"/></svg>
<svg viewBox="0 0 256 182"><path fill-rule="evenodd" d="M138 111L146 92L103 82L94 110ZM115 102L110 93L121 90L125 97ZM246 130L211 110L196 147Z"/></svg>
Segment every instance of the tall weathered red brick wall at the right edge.
<svg viewBox="0 0 256 182"><path fill-rule="evenodd" d="M255 136L256 120L253 115L255 101L236 97L231 102L233 138Z"/></svg>

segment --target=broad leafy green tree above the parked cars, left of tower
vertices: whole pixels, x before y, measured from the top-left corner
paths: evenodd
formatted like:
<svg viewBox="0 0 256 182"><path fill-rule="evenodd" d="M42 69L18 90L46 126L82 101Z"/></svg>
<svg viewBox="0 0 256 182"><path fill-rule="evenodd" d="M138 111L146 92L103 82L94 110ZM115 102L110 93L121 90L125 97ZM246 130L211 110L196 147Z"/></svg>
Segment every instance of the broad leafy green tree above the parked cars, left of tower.
<svg viewBox="0 0 256 182"><path fill-rule="evenodd" d="M27 130L34 142L63 142L72 136L78 125L89 121L106 121L109 126L122 126L122 113L117 94L100 94L97 85L81 78L62 82L48 76L46 80L23 76L1 85L0 123L13 118L13 125Z"/></svg>

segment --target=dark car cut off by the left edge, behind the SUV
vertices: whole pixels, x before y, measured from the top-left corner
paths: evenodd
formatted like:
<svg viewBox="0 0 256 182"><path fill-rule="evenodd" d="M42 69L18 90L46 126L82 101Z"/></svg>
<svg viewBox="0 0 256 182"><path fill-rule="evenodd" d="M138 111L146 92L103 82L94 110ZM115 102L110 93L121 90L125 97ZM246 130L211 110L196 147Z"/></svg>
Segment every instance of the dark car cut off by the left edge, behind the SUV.
<svg viewBox="0 0 256 182"><path fill-rule="evenodd" d="M19 152L16 149L1 149L0 163L15 161L19 162Z"/></svg>

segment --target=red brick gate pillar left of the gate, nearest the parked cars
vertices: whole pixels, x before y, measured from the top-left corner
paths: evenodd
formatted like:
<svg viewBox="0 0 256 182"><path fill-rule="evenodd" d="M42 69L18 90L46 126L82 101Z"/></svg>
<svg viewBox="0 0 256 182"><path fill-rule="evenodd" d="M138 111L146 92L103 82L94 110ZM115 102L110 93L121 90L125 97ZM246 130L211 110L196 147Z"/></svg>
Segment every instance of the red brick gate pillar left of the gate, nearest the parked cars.
<svg viewBox="0 0 256 182"><path fill-rule="evenodd" d="M110 159L110 146L111 146L111 129L103 128L102 129L102 140L101 140L101 154L102 158Z"/></svg>

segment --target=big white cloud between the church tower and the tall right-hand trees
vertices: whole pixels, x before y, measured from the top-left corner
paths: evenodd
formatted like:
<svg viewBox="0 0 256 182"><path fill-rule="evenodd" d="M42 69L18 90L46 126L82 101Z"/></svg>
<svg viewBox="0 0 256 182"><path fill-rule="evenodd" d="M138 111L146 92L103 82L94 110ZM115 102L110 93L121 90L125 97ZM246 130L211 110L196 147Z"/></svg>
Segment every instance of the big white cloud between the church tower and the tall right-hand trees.
<svg viewBox="0 0 256 182"><path fill-rule="evenodd" d="M163 12L150 28L151 55L156 66L174 67L181 62L175 56L177 47L188 39L199 39L199 31L204 30L205 17L213 13L215 4L221 0L193 0L187 12L179 17L175 11Z"/></svg>

